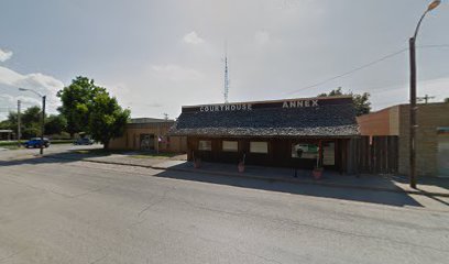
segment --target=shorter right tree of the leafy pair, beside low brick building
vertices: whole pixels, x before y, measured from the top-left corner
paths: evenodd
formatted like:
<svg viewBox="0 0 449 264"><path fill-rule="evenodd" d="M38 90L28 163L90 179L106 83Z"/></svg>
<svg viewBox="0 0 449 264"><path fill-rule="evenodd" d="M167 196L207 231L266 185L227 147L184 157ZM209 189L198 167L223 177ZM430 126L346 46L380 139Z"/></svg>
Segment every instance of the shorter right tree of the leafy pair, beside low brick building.
<svg viewBox="0 0 449 264"><path fill-rule="evenodd" d="M123 135L130 111L123 110L114 97L102 91L95 97L89 109L89 133L94 140L109 148L110 140Z"/></svg>

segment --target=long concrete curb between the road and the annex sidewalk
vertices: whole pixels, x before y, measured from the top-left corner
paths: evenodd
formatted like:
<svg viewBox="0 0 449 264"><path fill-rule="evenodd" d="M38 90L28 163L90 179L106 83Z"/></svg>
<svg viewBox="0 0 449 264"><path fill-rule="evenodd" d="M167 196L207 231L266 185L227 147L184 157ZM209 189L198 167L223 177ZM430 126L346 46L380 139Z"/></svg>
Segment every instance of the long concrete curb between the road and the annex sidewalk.
<svg viewBox="0 0 449 264"><path fill-rule="evenodd" d="M241 177L241 178L252 178L252 179L262 179L262 180L270 180L270 182L283 182L283 183L291 183L291 184L303 184L303 185L320 185L326 187L333 187L333 188L350 188L350 189L366 189L366 190L375 190L375 191L387 191L387 193L405 193L410 195L421 195L421 196L438 196L438 197L449 197L449 194L445 193L436 193L436 191L424 191L424 190L406 190L401 187L396 187L394 189L390 188L382 188L382 187L373 187L373 186L360 186L360 185L346 185L346 184L338 184L338 183L324 183L320 180L307 180L307 179L298 179L298 178L283 178L283 177L265 177L259 175L248 175L248 174L240 174L240 173L226 173L226 172L217 172L217 170L206 170L201 168L174 168L174 167L161 167L157 165L141 165L141 164L129 164L129 163L117 163L117 162L106 162L106 161L94 161L89 158L85 160L76 160L69 157L48 157L43 156L46 158L55 158L55 160L69 160L69 161L81 161L81 162L90 162L90 163L99 163L99 164L110 164L110 165L122 165L122 166L134 166L134 167L144 167L144 168L152 168L158 170L173 170L173 172L182 172L182 173L200 173L200 174L209 174L209 175L217 175L217 176L231 176L231 177Z"/></svg>

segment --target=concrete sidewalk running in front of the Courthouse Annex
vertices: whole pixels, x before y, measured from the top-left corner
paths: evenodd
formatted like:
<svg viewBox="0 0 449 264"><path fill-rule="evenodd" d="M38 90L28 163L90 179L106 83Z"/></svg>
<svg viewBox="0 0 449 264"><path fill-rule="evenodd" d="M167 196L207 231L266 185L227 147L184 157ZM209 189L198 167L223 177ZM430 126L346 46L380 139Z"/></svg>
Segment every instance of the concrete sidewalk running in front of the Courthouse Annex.
<svg viewBox="0 0 449 264"><path fill-rule="evenodd" d="M277 168L263 166L245 166L244 173L238 173L237 165L221 163L202 163L200 168L194 168L193 163L186 162L183 156L153 158L133 157L130 154L111 154L106 156L90 156L86 154L65 153L50 156L54 158L85 161L94 163L140 166L153 169L200 173L209 175L247 177L264 180L277 180L295 184L322 185L329 187L370 189L380 191L407 193L425 196L449 197L449 178L421 178L418 179L418 189L408 186L408 179L392 175L340 175L336 172L326 172L320 180L311 176L310 170L296 170L293 168Z"/></svg>

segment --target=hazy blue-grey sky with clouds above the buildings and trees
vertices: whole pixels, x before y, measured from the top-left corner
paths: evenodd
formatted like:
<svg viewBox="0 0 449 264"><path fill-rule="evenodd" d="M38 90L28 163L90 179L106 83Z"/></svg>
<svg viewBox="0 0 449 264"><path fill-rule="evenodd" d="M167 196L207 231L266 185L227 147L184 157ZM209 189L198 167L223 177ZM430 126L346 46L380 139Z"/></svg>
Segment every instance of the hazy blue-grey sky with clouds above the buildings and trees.
<svg viewBox="0 0 449 264"><path fill-rule="evenodd" d="M92 78L133 118L182 106L370 92L373 110L408 100L408 38L427 0L2 0L0 120L61 105L57 90ZM449 97L449 1L417 38L418 96ZM366 66L366 67L362 67ZM362 67L362 69L350 73ZM340 78L333 78L344 75Z"/></svg>

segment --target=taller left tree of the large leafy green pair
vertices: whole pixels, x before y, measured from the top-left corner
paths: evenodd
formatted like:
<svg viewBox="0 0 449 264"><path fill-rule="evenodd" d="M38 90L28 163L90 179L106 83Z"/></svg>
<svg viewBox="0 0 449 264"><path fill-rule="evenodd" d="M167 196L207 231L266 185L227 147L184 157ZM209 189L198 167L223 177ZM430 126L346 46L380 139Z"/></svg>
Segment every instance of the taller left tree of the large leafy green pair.
<svg viewBox="0 0 449 264"><path fill-rule="evenodd" d="M68 87L57 92L63 103L59 112L67 121L67 132L70 138L77 132L86 132L89 127L89 108L96 96L106 89L96 86L92 79L78 76Z"/></svg>

